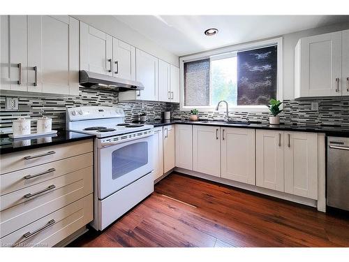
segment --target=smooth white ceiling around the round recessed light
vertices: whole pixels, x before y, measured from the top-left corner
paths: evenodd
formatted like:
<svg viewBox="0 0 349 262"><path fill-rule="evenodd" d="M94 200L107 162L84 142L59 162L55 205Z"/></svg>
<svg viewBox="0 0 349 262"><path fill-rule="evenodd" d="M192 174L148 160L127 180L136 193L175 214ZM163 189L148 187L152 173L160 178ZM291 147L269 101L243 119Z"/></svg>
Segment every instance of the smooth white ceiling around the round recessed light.
<svg viewBox="0 0 349 262"><path fill-rule="evenodd" d="M225 45L279 36L327 24L349 15L115 15L161 47L182 56ZM216 36L205 36L211 27Z"/></svg>

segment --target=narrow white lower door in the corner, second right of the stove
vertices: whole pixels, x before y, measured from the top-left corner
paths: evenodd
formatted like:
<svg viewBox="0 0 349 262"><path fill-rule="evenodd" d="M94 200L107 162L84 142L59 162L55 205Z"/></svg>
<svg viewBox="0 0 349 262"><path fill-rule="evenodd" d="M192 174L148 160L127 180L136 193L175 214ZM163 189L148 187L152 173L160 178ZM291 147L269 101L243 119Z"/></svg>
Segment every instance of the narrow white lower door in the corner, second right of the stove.
<svg viewBox="0 0 349 262"><path fill-rule="evenodd" d="M175 166L174 125L163 127L163 173L168 173Z"/></svg>

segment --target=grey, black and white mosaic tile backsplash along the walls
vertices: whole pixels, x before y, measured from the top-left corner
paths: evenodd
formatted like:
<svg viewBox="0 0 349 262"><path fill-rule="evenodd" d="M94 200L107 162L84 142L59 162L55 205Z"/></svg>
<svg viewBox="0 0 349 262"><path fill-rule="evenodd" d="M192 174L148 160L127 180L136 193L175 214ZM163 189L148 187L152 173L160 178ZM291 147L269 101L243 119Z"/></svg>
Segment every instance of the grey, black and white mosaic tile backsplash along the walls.
<svg viewBox="0 0 349 262"><path fill-rule="evenodd" d="M140 112L147 112L147 119L161 119L163 111L172 111L174 118L188 118L188 111L180 111L178 103L151 102L151 101L131 101L119 102L118 93L96 91L80 88L79 96L71 97L20 97L19 110L5 110L5 96L0 96L0 131L10 133L12 120L18 117L38 117L46 116L52 118L52 127L61 129L65 127L66 108L82 105L117 105L124 109L126 113L125 122L131 122ZM311 102L318 102L318 110L311 110ZM349 98L332 98L318 100L286 100L283 101L283 112L281 122L285 124L303 124L318 126L320 124L337 124L349 126ZM224 119L225 112L214 111L199 112L201 119ZM269 112L229 112L230 119L248 119L267 123ZM36 129L36 121L33 121L32 129Z"/></svg>

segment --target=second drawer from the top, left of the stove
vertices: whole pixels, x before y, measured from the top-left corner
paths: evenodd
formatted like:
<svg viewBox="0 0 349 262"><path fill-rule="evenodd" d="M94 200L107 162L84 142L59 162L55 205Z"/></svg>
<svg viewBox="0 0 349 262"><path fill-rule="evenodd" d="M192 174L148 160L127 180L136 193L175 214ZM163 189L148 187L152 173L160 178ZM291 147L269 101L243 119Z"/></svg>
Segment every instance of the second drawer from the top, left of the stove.
<svg viewBox="0 0 349 262"><path fill-rule="evenodd" d="M93 161L93 153L87 153L0 175L0 196L87 168Z"/></svg>

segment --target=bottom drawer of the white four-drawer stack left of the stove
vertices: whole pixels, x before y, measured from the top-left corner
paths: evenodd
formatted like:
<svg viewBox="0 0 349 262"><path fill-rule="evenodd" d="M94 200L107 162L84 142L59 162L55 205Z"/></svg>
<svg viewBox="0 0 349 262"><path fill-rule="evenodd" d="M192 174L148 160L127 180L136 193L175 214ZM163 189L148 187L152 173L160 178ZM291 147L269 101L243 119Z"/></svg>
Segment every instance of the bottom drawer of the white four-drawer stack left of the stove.
<svg viewBox="0 0 349 262"><path fill-rule="evenodd" d="M2 247L52 247L93 219L93 194L0 239Z"/></svg>

